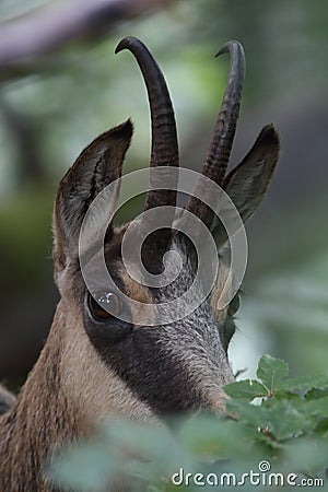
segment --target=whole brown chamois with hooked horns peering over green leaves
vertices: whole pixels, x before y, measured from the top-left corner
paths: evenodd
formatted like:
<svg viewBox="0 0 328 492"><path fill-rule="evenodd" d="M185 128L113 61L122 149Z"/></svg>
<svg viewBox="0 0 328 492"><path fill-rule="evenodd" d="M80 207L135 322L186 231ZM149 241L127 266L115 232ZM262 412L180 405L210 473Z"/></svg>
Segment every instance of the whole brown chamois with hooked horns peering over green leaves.
<svg viewBox="0 0 328 492"><path fill-rule="evenodd" d="M174 109L164 77L148 48L137 38L124 38L116 52L128 49L137 59L151 108L150 169L178 166ZM239 113L245 71L239 43L229 42L219 54L230 52L227 85L202 175L221 186L245 222L260 204L279 157L274 128L265 127L246 157L226 175ZM120 318L119 294L94 298L81 272L80 230L95 197L121 176L132 137L130 120L104 132L86 147L62 178L54 210L55 281L61 298L40 356L17 398L0 388L1 492L54 492L44 464L67 442L89 435L107 415L161 421L163 415L212 409L224 412L223 386L234 379L227 345L234 333L234 306L218 309L216 298L226 279L220 262L216 283L194 312L172 323L140 326ZM152 175L152 173L150 173ZM176 207L176 191L150 189L144 210ZM190 197L186 210L213 226L213 213ZM173 221L173 219L172 219ZM144 243L142 258L153 274L163 269L167 250L178 253L181 270L162 288L138 283L126 271L121 243L127 224L107 224L99 247L108 271L121 292L140 303L157 305L178 298L195 277L197 261L191 242L172 222ZM215 227L218 229L218 222ZM220 227L220 224L219 224ZM218 250L226 236L219 234Z"/></svg>

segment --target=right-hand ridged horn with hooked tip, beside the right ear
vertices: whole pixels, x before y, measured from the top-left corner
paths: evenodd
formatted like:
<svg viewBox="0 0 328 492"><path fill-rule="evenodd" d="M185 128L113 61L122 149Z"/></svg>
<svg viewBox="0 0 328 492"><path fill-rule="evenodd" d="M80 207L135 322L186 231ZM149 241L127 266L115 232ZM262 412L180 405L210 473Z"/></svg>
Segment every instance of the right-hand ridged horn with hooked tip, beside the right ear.
<svg viewBox="0 0 328 492"><path fill-rule="evenodd" d="M243 83L245 79L245 54L241 43L236 40L226 43L215 56L218 57L225 52L230 52L231 56L227 84L213 137L201 171L204 176L209 177L218 185L222 185L226 173L239 116ZM189 199L187 210L195 213L208 226L211 225L213 213L197 198L191 197Z"/></svg>

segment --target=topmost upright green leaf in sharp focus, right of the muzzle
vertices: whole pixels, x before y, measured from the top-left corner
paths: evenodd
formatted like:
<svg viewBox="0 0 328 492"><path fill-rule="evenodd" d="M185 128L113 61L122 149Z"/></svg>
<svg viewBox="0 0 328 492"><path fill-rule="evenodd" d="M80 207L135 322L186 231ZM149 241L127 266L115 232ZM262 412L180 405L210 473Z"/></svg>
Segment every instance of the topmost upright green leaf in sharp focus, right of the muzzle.
<svg viewBox="0 0 328 492"><path fill-rule="evenodd" d="M281 359L263 355L258 364L257 377L270 389L271 395L281 385L281 382L289 374L289 365Z"/></svg>

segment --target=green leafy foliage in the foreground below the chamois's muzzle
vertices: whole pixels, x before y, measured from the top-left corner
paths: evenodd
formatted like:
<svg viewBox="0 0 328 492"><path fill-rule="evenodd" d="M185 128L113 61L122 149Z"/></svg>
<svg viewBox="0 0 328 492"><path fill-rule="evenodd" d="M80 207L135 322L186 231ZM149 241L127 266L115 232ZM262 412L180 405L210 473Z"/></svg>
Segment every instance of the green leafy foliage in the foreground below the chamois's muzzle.
<svg viewBox="0 0 328 492"><path fill-rule="evenodd" d="M230 399L224 419L201 413L173 419L167 426L103 424L87 443L61 452L50 477L80 492L106 491L118 476L138 492L225 485L323 489L328 377L288 374L284 361L263 355L258 379L225 387Z"/></svg>

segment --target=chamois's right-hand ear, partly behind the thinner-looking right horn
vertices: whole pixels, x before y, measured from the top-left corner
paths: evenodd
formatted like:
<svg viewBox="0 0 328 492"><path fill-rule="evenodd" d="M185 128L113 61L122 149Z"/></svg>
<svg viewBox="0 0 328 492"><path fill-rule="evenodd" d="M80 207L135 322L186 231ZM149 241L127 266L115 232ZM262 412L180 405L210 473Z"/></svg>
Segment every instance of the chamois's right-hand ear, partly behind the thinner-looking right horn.
<svg viewBox="0 0 328 492"><path fill-rule="evenodd" d="M279 136L272 125L266 126L244 160L225 177L223 189L234 202L245 223L260 206L279 160ZM226 242L221 222L212 234L218 246Z"/></svg>

